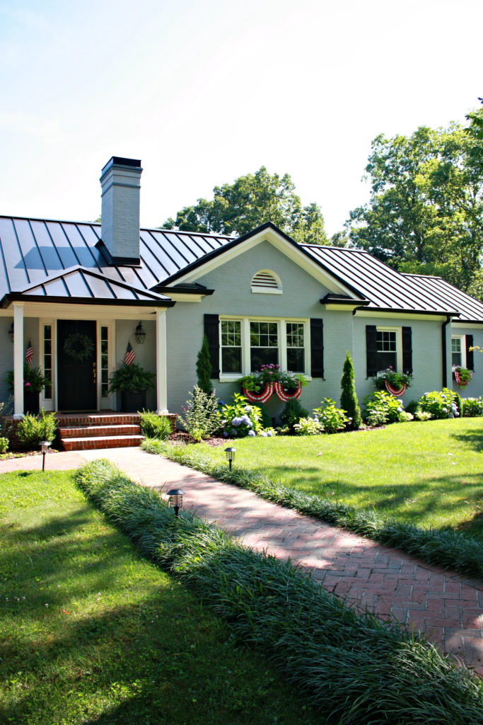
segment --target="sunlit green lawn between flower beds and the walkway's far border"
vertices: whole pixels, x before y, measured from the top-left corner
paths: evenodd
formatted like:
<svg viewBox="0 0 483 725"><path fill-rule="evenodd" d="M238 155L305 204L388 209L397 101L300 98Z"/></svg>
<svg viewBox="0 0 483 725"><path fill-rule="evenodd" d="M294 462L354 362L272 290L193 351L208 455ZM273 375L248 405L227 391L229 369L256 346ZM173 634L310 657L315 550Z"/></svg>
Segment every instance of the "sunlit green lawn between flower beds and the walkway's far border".
<svg viewBox="0 0 483 725"><path fill-rule="evenodd" d="M483 536L483 418L331 436L245 438L235 465L399 521ZM200 450L200 447L194 447ZM224 447L203 450L224 460Z"/></svg>

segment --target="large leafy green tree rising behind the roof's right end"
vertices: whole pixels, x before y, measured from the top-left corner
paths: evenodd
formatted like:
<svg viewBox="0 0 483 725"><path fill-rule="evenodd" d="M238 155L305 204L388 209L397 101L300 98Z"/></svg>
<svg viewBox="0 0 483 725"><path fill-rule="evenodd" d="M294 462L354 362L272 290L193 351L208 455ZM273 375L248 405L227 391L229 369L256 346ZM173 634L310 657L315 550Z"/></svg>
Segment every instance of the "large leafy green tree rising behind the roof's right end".
<svg viewBox="0 0 483 725"><path fill-rule="evenodd" d="M377 136L369 204L350 212L350 242L402 272L437 274L469 289L483 249L483 174L476 141L458 124Z"/></svg>

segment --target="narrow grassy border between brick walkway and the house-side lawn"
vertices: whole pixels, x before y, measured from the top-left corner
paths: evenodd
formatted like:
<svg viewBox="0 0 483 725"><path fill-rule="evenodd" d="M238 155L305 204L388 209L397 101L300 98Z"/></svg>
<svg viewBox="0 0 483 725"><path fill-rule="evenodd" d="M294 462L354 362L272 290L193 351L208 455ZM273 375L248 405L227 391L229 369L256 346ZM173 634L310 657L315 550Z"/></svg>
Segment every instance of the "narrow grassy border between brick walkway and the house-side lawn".
<svg viewBox="0 0 483 725"><path fill-rule="evenodd" d="M412 523L384 518L375 511L356 509L340 501L306 494L272 481L267 476L213 463L202 452L156 440L143 442L143 450L207 473L219 481L248 489L260 497L291 508L298 513L333 523L342 529L415 555L429 564L458 571L466 576L483 577L483 544L458 531L424 529Z"/></svg>

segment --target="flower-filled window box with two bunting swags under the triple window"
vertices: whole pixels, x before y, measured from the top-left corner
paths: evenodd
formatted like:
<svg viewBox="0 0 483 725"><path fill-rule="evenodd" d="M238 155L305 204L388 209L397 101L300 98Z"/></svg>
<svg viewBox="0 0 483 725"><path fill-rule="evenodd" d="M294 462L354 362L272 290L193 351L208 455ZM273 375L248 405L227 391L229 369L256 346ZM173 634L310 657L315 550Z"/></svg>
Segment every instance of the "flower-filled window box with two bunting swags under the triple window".
<svg viewBox="0 0 483 725"><path fill-rule="evenodd" d="M280 365L261 365L251 375L245 375L238 381L243 395L251 402L266 402L272 394L287 401L301 397L302 388L307 384L301 373L281 370Z"/></svg>

